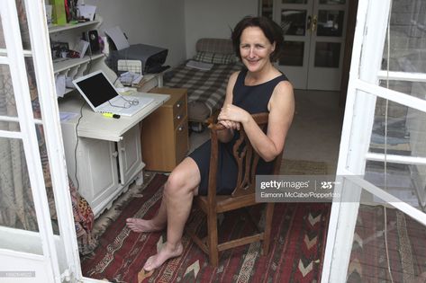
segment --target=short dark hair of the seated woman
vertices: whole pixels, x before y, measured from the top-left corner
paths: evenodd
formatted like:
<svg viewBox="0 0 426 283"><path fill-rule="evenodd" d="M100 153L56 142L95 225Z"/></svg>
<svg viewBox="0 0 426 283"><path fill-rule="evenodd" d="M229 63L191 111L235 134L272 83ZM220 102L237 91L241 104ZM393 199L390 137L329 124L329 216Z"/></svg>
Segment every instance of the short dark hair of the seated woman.
<svg viewBox="0 0 426 283"><path fill-rule="evenodd" d="M263 31L263 33L267 37L267 40L269 40L271 44L275 42L275 50L271 53L271 56L269 57L271 62L275 62L279 58L284 47L284 31L276 22L263 16L245 16L240 22L235 25L235 28L233 29L231 34L231 40L237 57L241 59L240 37L242 31L244 31L248 27L258 27L260 30Z"/></svg>

